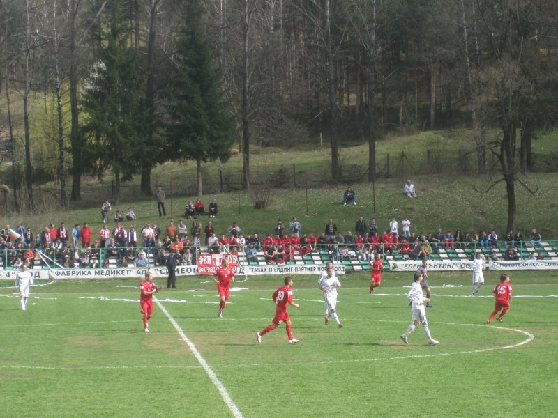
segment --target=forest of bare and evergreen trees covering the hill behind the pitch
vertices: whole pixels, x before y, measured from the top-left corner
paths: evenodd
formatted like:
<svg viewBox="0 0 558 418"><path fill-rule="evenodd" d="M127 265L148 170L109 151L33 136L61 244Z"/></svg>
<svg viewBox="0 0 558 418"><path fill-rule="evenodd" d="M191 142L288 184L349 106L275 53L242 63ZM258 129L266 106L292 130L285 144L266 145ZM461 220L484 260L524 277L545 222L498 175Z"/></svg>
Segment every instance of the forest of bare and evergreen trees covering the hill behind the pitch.
<svg viewBox="0 0 558 418"><path fill-rule="evenodd" d="M532 146L555 142L555 1L2 0L0 19L7 210L68 208L91 177L114 199L130 181L149 196L170 161L195 162L198 195L208 171L211 192L296 187L310 162L252 167L255 153L328 148L311 184L489 174L513 229L515 187L534 193L524 176L557 169ZM418 161L378 157L423 131L436 140L412 137ZM356 144L365 166L342 155ZM241 173L209 165L231 156ZM54 203L33 193L47 182Z"/></svg>

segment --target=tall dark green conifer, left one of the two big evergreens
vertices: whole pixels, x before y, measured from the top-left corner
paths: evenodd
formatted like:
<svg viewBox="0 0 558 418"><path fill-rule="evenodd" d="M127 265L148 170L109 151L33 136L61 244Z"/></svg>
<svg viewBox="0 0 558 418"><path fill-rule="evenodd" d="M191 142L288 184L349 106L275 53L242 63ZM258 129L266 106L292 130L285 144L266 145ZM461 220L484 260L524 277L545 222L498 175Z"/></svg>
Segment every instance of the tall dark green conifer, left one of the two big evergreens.
<svg viewBox="0 0 558 418"><path fill-rule="evenodd" d="M127 45L126 24L118 2L111 6L106 46L100 50L100 61L84 98L84 163L99 177L111 168L119 194L120 180L130 179L139 171L142 160L149 158L144 150L149 118L139 56Z"/></svg>

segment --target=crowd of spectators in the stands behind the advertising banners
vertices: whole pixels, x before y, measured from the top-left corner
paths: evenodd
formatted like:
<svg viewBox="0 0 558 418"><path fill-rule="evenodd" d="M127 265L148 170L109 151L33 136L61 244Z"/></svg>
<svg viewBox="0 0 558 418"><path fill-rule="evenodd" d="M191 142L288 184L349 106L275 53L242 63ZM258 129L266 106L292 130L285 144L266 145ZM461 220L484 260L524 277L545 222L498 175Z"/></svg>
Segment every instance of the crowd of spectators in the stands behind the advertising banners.
<svg viewBox="0 0 558 418"><path fill-rule="evenodd" d="M350 191L350 188L347 190ZM347 201L356 203L356 196ZM110 204L107 203L103 203L103 210L110 211ZM107 214L102 215L104 221ZM204 226L198 220L202 215L209 218ZM472 249L472 253L486 249L488 256L497 258L495 249L502 248L506 260L519 260L521 253L518 249L527 245L538 248L542 243L536 229L532 229L525 238L520 231L508 231L500 237L496 231L462 233L458 229L452 233L441 228L435 233L415 234L408 217L400 221L392 217L382 228L376 219L367 222L361 216L356 220L354 229L349 231L339 231L333 219L329 219L321 233L303 232L297 217L285 224L278 219L273 236L271 233L265 236L258 233L245 235L241 226L232 222L226 231L218 234L211 221L217 215L215 199L207 211L202 200L196 199L186 205L186 221L179 219L174 224L174 220L170 219L164 226L157 222L125 226L122 223L124 217L118 211L114 215L114 226L104 223L98 232L93 232L86 222L74 224L71 229L64 222L50 224L40 231L34 231L22 222L15 228L6 225L0 230L1 267L18 268L23 263L62 268L114 264L119 267L146 267L150 263L166 265L169 254L174 254L176 265L193 265L199 251L214 254L240 252L248 262L258 261L263 256L268 263L286 263L294 261L296 256L309 256L313 251L327 251L332 261L372 261L376 254L429 259L433 254L439 254L441 249ZM136 219L131 208L125 216L129 222ZM529 256L540 258L541 254Z"/></svg>

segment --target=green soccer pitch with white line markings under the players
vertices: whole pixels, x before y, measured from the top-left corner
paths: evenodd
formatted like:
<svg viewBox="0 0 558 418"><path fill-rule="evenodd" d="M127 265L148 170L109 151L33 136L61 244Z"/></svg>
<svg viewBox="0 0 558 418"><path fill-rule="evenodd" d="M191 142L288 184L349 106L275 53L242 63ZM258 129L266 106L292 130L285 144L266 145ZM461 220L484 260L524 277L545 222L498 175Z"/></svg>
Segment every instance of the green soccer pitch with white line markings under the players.
<svg viewBox="0 0 558 418"><path fill-rule="evenodd" d="M0 282L1 417L551 417L558 401L558 272L512 272L503 323L487 325L499 274L430 274L429 346L411 322L410 273L341 276L324 325L317 277L294 277L294 337L271 323L282 277L236 277L224 318L211 277L156 295L143 332L137 280L34 286L27 311ZM166 280L165 280L166 281ZM163 284L163 280L156 280ZM165 283L166 284L166 283Z"/></svg>

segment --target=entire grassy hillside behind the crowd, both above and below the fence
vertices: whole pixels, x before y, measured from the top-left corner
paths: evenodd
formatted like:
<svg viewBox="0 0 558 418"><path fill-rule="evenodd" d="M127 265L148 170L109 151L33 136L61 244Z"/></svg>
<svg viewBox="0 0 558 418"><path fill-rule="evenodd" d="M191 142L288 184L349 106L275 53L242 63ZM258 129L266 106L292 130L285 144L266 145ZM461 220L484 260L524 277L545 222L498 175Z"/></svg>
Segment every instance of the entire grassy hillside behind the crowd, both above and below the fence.
<svg viewBox="0 0 558 418"><path fill-rule="evenodd" d="M252 147L254 154L251 155L252 173L271 170L272 167L289 167L294 164L299 170L315 170L322 173L322 181L310 184L308 190L299 189L273 189L271 190L271 204L264 210L252 208L253 195L241 191L227 194L208 194L202 196L206 203L212 198L218 200L220 217L213 219L217 231L225 231L233 221L237 222L244 232L255 232L260 234L273 233L273 227L278 218L288 224L293 216L299 217L303 226L303 232L320 233L324 229L327 220L332 217L340 231L354 229L354 224L360 215L368 221L371 217L377 219L380 228L387 228L389 219L395 216L399 221L408 216L412 222L412 231L419 233L434 232L438 227L445 230L461 229L462 231L479 231L481 229L495 229L498 233L504 233L507 222L506 189L503 183L492 187L489 192L484 193L493 182L499 179L497 173L490 176L460 176L456 175L415 175L408 173L413 178L418 190L418 199L409 199L402 195L402 187L406 177L382 178L375 185L370 183L352 183L356 190L359 204L357 206L341 206L342 193L347 185L331 187L329 180L329 150L326 147L320 149L319 143L316 150L303 150L306 146L297 150L280 150L278 148L256 148ZM400 154L403 150L408 155L409 162L420 164L420 155L425 155L425 150L437 149L437 155L450 156L458 153L458 150L471 147L471 141L467 138L467 132L444 131L423 132L412 137L397 137L379 141L378 165L386 155ZM368 155L365 145L342 148L341 158L345 167L364 167ZM534 155L536 162L543 160L552 162L558 156L558 134L552 132L534 141ZM449 158L449 157L448 157ZM350 164L347 164L350 162ZM449 164L449 163L444 163ZM552 164L551 164L552 165ZM270 168L271 167L271 168ZM383 166L382 166L383 167ZM242 170L242 157L236 155L226 164L206 164L204 173L206 176L214 175L219 169L223 169L233 176L240 178ZM409 166L409 170L411 167ZM325 178L325 180L324 180ZM365 176L364 176L365 178ZM531 228L538 228L544 239L558 239L558 226L553 222L556 219L558 202L555 199L555 173L534 173L520 177L522 182L536 189L535 194L530 194L519 183L517 192L517 222L516 229L523 231L524 235ZM171 192L167 187L167 217L159 219L156 203L153 198L144 198L137 193L139 180L128 183L123 190L123 198L120 201L111 199L110 186L107 183L100 184L91 178L84 178L82 189L83 201L73 203L70 210L61 212L53 209L46 212L20 217L17 214L8 214L0 217L3 224L15 225L17 221L33 227L40 231L43 226L54 223L66 222L67 225L75 223L83 224L89 222L93 231L100 229L100 205L106 198L113 203L113 209L126 212L128 206L132 206L139 218L137 224L156 220L160 224L166 224L170 217L175 220L183 216L185 204L193 199L193 196L181 194L182 183L195 183L195 164L191 162L172 162L162 164L153 170L152 184L166 184L173 181L175 188ZM52 186L54 188L54 185ZM300 185L299 185L300 187ZM68 185L68 190L70 185ZM205 224L208 219L201 219ZM188 222L190 223L190 222Z"/></svg>

